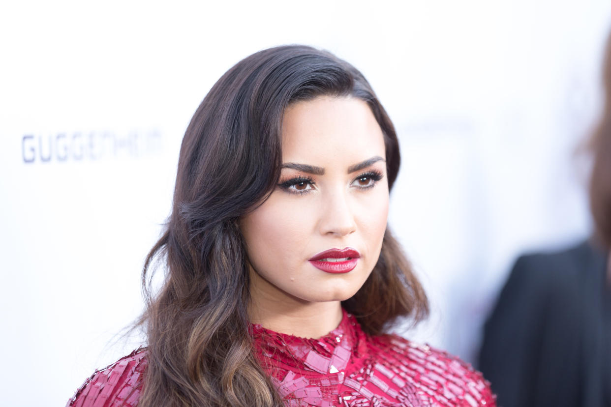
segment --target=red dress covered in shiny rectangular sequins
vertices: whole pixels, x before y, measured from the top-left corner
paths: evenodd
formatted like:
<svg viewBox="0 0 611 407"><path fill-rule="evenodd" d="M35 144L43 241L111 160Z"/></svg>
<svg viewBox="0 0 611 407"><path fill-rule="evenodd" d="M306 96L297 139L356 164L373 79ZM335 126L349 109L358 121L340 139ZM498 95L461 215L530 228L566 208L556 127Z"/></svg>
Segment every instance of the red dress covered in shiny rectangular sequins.
<svg viewBox="0 0 611 407"><path fill-rule="evenodd" d="M460 359L396 335L368 336L343 312L340 325L306 339L251 325L255 352L285 405L496 406L487 381ZM145 351L94 373L68 406L137 404Z"/></svg>

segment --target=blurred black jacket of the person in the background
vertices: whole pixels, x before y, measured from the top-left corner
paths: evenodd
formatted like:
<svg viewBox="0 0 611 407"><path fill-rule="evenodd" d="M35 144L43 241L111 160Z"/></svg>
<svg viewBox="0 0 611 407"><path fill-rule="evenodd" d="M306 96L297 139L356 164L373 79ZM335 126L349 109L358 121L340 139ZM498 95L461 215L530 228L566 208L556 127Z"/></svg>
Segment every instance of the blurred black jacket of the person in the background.
<svg viewBox="0 0 611 407"><path fill-rule="evenodd" d="M500 407L611 406L607 256L591 242L516 261L479 368Z"/></svg>

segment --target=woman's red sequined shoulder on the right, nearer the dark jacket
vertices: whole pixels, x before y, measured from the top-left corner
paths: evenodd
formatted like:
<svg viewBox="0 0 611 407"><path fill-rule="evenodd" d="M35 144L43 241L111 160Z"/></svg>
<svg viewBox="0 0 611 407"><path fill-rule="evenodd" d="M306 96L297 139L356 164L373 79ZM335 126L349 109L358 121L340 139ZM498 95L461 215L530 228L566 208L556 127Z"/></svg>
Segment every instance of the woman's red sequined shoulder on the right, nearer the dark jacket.
<svg viewBox="0 0 611 407"><path fill-rule="evenodd" d="M408 381L426 394L432 405L496 406L490 383L460 358L397 335L380 339L403 366Z"/></svg>

